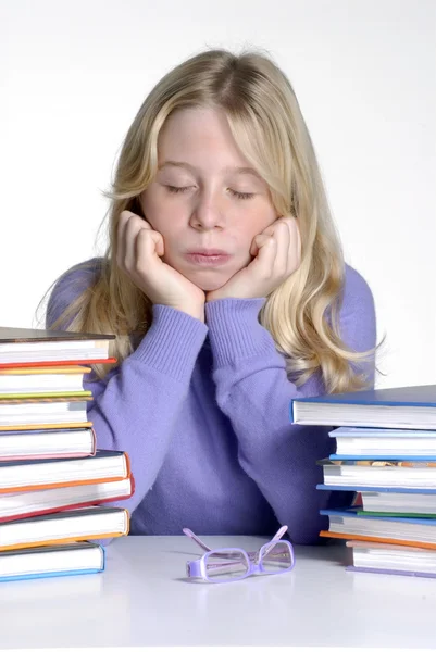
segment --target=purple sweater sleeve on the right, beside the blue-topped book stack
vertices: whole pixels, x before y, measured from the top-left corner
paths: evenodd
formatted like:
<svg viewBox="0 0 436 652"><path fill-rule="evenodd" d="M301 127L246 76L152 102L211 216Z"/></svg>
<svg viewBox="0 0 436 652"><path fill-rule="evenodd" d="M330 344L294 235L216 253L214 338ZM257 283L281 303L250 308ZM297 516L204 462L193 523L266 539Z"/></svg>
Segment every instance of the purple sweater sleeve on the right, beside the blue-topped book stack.
<svg viewBox="0 0 436 652"><path fill-rule="evenodd" d="M322 468L316 461L334 452L331 427L289 423L291 399L323 393L312 378L297 388L287 378L285 360L258 321L264 299L221 299L207 304L214 359L216 400L238 439L239 463L289 527L295 543L320 542L327 529L320 509L335 506L344 492L316 490ZM375 346L375 313L370 288L349 268L340 314L341 337L354 351ZM370 381L374 361L362 367ZM349 493L346 494L349 498Z"/></svg>

